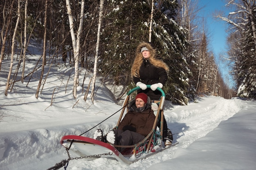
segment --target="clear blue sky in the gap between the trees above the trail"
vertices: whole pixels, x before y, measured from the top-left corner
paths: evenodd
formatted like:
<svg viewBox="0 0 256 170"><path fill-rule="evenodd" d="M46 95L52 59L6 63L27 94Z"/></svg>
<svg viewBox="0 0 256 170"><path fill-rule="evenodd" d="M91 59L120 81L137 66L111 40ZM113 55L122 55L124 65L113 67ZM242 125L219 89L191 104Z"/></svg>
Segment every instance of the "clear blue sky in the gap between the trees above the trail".
<svg viewBox="0 0 256 170"><path fill-rule="evenodd" d="M219 61L220 55L225 55L227 50L226 38L227 38L227 22L220 19L214 18L217 15L216 11L223 11L224 16L227 17L228 11L225 7L224 0L195 0L198 1L199 7L202 9L199 12L201 17L204 17L207 21L207 29L209 33L209 48L213 51L216 64L219 65L220 72L222 73L222 78L227 85L231 88L234 86L234 81L229 75L229 70L227 63L225 61ZM231 9L229 9L231 10ZM226 79L228 78L228 81Z"/></svg>

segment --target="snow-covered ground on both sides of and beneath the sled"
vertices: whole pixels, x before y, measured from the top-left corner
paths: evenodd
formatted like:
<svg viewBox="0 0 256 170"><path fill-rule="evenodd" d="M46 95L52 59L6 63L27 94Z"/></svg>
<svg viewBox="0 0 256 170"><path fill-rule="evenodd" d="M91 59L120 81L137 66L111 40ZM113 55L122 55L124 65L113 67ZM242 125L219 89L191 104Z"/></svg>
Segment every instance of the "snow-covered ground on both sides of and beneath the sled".
<svg viewBox="0 0 256 170"><path fill-rule="evenodd" d="M28 72L34 69L36 61L27 62ZM9 61L4 60L0 72L0 170L51 168L68 158L60 144L61 137L80 135L121 109L100 81L96 84L94 104L90 92L88 99L83 100L90 74L85 79L84 89L78 87L78 97L74 99L73 80L69 79L72 68L56 66L52 66L52 70L58 71L50 72L38 99L35 94L40 69L30 81L26 78L24 83L16 82L5 96L8 68ZM81 75L84 73L81 71ZM83 76L80 76L80 85L82 81ZM119 113L84 136L92 137L96 129L107 133L116 125ZM173 142L179 142L176 146L129 166L115 159L77 159L69 162L67 170L255 170L254 100L204 96L188 106L165 101L164 115L174 134Z"/></svg>

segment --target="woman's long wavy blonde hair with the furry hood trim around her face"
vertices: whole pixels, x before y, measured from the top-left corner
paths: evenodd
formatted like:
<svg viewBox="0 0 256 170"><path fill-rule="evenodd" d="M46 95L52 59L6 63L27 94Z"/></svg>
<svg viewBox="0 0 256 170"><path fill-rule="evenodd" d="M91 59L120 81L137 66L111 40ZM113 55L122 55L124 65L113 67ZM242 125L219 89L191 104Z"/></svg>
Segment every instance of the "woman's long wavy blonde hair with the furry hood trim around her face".
<svg viewBox="0 0 256 170"><path fill-rule="evenodd" d="M132 64L131 77L133 76L139 77L139 69L143 62L143 55L140 52L142 47L148 48L148 51L150 52L150 57L148 58L148 61L152 65L154 65L157 68L164 68L164 70L166 70L167 73L169 72L168 65L166 65L166 63L164 63L163 61L155 58L155 55L156 55L155 49L152 46L150 46L150 44L143 42L139 44L136 48L135 59Z"/></svg>

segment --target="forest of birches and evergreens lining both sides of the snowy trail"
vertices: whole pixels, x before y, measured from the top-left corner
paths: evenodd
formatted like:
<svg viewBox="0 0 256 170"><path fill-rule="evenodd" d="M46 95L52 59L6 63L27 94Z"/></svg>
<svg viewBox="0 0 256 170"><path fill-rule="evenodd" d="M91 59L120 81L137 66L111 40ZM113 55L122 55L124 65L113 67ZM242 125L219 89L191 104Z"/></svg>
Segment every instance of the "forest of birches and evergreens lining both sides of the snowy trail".
<svg viewBox="0 0 256 170"><path fill-rule="evenodd" d="M197 0L0 0L1 56L10 72L6 92L24 81L27 47L42 46L37 69L44 65L74 67L74 89L79 70L86 69L104 81L130 89L135 87L130 69L137 45L152 42L157 57L170 68L163 87L166 100L186 105L201 94L231 98L255 98L256 5L254 0L229 0L229 16L216 18L229 24L230 62L235 87L220 72L220 63L209 47L204 17ZM13 56L20 61L12 68ZM21 79L13 78L13 70ZM1 76L6 76L2 75ZM13 76L13 77L11 77ZM38 91L42 85L42 74ZM92 81L93 82L93 81ZM76 83L76 84L75 84ZM93 86L92 86L93 87ZM38 92L36 92L38 96Z"/></svg>

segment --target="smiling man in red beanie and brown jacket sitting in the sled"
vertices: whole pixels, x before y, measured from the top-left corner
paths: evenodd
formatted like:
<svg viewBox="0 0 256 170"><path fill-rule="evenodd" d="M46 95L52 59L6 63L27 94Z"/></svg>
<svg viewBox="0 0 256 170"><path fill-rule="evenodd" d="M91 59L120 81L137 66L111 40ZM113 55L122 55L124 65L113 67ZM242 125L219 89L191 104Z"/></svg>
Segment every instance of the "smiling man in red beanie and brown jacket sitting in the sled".
<svg viewBox="0 0 256 170"><path fill-rule="evenodd" d="M152 130L155 115L149 105L150 98L145 93L139 93L135 100L130 102L129 111L120 122L115 131L108 132L106 139L100 129L94 133L93 138L106 141L110 144L129 146L141 142ZM125 148L117 148L119 152Z"/></svg>

